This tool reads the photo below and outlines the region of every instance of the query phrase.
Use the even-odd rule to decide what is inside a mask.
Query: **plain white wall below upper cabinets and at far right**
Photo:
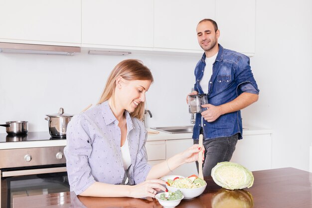
[[[311,10],[311,0],[256,2],[256,54],[251,65],[261,91],[259,101],[242,114],[244,124],[273,129],[273,168],[309,170]],[[237,28],[244,26],[238,22]],[[45,114],[60,107],[77,114],[95,104],[109,72],[125,58],[143,60],[154,75],[147,94],[153,113],[148,126],[189,125],[184,99],[200,56],[97,56],[86,51],[73,57],[0,54],[0,122],[27,120],[29,131],[47,131]]]

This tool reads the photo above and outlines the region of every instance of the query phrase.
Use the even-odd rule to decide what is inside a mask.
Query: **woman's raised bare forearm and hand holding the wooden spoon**
[[[193,145],[187,150],[172,156],[168,160],[153,166],[146,179],[159,179],[184,163],[197,161],[200,151],[203,151],[203,148],[200,148],[198,145]]]

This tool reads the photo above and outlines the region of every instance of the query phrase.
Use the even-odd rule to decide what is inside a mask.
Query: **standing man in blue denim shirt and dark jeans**
[[[195,67],[194,91],[189,95],[205,93],[208,104],[202,105],[206,111],[196,114],[192,138],[198,144],[203,134],[203,175],[210,176],[217,163],[232,158],[237,140],[242,139],[240,110],[258,100],[259,89],[249,57],[218,44],[220,31],[214,20],[201,20],[196,32],[204,54]]]

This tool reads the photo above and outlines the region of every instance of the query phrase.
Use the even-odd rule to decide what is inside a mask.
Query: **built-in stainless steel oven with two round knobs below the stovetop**
[[[64,147],[0,149],[1,208],[18,197],[68,192]]]

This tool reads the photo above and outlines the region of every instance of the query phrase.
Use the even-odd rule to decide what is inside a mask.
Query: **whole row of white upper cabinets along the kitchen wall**
[[[203,18],[225,48],[254,54],[255,0],[0,0],[0,42],[202,53]]]

